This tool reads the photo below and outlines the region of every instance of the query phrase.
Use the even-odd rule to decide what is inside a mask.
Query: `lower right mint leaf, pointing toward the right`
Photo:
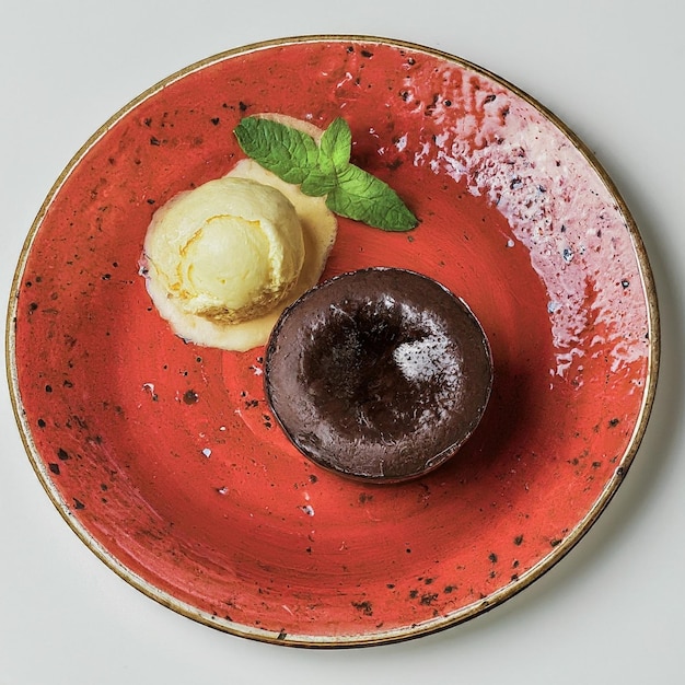
[[[348,164],[328,193],[326,207],[385,231],[409,231],[418,221],[386,183],[359,166]]]

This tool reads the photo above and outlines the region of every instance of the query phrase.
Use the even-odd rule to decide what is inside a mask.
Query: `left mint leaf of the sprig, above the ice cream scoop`
[[[314,139],[285,124],[246,117],[234,130],[243,152],[286,183],[301,184],[317,166]]]

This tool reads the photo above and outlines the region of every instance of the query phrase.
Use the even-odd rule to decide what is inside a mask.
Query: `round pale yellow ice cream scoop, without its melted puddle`
[[[274,187],[223,177],[158,210],[144,242],[147,268],[182,312],[223,324],[272,310],[304,262],[302,227]]]

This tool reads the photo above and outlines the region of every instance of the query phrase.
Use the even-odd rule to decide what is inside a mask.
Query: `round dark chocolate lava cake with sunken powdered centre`
[[[266,396],[293,444],[345,476],[394,483],[452,456],[492,384],[468,306],[425,276],[342,274],[287,309],[266,351]]]

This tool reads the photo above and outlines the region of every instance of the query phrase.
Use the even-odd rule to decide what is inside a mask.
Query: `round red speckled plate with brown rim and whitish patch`
[[[420,220],[340,220],[324,277],[410,268],[483,324],[495,382],[460,458],[397,486],[317,468],[268,414],[263,349],[172,335],[138,274],[155,208],[225,174],[240,118],[344,116]],[[417,637],[491,608],[580,539],[635,456],[659,360],[624,202],[553,115],[416,45],[306,37],[195,65],[116,114],[40,209],[9,310],[30,458],[77,534],[162,604],[292,646]]]

